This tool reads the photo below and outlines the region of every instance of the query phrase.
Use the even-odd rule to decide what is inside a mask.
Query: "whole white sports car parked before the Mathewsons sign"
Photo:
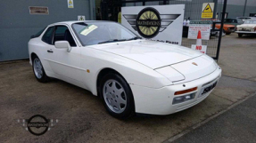
[[[118,118],[193,107],[221,75],[206,54],[141,39],[109,21],[51,24],[31,36],[29,59],[39,82],[54,77],[87,89]]]

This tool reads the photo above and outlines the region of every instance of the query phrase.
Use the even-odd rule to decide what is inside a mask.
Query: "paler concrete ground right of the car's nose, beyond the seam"
[[[256,81],[256,36],[225,36],[219,66],[223,69],[223,75]]]

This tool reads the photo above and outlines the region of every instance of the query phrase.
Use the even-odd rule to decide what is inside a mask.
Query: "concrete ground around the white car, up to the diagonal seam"
[[[162,142],[256,91],[255,39],[235,34],[223,38],[223,77],[202,103],[173,115],[128,121],[108,115],[89,91],[59,80],[38,83],[28,61],[1,63],[0,142]],[[16,121],[37,114],[60,122],[37,137]]]

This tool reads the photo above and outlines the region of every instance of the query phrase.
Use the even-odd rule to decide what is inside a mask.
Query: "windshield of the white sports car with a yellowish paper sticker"
[[[84,46],[132,40],[137,37],[136,34],[115,22],[80,22],[74,23],[72,28]]]

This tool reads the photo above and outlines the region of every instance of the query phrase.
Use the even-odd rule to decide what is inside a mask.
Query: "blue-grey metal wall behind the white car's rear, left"
[[[94,0],[73,1],[74,8],[67,0],[1,0],[0,61],[29,58],[29,37],[51,23],[78,20],[78,15],[94,20]],[[46,6],[49,15],[31,15],[29,6]]]

